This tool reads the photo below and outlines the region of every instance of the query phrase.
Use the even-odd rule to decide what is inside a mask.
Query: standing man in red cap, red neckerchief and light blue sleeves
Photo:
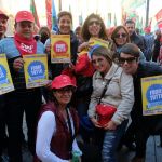
[[[0,53],[5,53],[15,91],[5,94],[6,124],[9,130],[10,162],[22,162],[22,122],[26,113],[28,147],[35,153],[35,133],[37,114],[41,105],[40,89],[26,89],[23,55],[44,54],[43,44],[33,39],[33,15],[19,11],[15,16],[15,35],[0,42]]]

